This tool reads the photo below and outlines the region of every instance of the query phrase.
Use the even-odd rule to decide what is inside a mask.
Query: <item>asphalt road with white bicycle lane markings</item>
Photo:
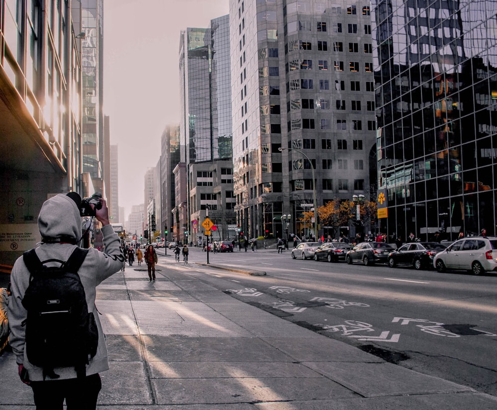
[[[209,253],[212,264],[267,273],[248,276],[194,264],[206,261],[198,249],[189,259],[162,260],[286,320],[497,396],[497,275],[293,260],[289,251]]]

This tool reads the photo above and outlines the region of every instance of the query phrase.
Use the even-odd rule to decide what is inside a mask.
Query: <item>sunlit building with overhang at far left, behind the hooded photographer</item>
[[[67,1],[0,0],[0,258],[7,272],[40,241],[43,202],[83,193],[81,39],[72,12]]]

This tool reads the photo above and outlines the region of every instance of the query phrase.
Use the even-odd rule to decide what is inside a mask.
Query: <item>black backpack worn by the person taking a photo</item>
[[[96,354],[98,329],[88,312],[78,270],[88,249],[77,247],[69,259],[48,259],[60,266],[48,267],[35,249],[23,254],[31,273],[22,306],[27,310],[26,354],[35,366],[43,368],[43,380],[60,377],[55,367],[74,367],[78,378],[85,376],[89,358]]]

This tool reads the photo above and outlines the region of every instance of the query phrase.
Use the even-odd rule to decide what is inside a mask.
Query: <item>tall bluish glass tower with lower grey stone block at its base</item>
[[[175,210],[178,214],[186,207],[188,215],[179,234],[184,242],[205,240],[201,223],[208,212],[218,226],[217,239],[234,238],[229,15],[212,19],[208,28],[181,32],[179,63],[180,161],[186,164],[186,178],[176,182],[187,184],[187,197],[186,204],[175,203]],[[177,171],[176,178],[182,168]]]

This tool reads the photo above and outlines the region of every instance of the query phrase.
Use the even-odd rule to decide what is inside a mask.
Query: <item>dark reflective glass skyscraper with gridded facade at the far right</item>
[[[373,0],[371,20],[380,230],[495,235],[496,2]]]

